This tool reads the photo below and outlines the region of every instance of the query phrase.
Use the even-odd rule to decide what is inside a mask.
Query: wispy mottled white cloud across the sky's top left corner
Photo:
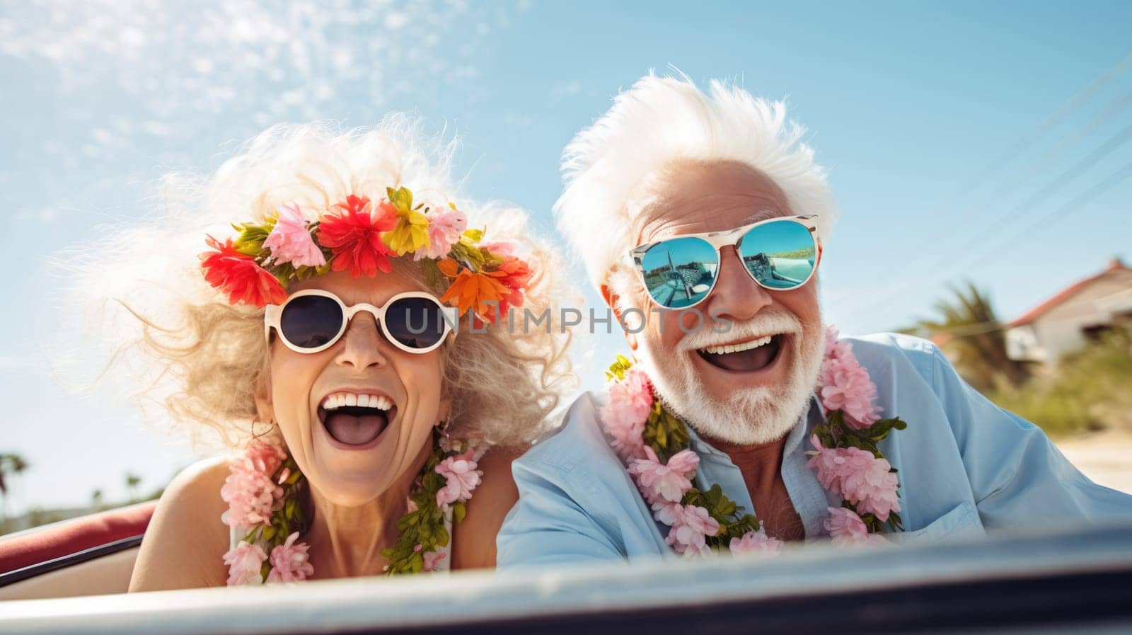
[[[397,95],[438,101],[451,85],[479,77],[469,52],[484,46],[514,10],[451,0],[191,7],[11,3],[0,18],[0,55],[46,63],[60,102],[105,100],[111,92],[121,102],[117,117],[144,121],[129,130],[93,122],[113,131],[114,143],[96,134],[92,147],[79,149],[109,158],[112,149],[135,147],[132,135],[177,147],[199,140],[201,130],[218,143],[258,131],[251,125],[323,119],[326,102],[340,95],[351,96],[342,114],[359,123],[376,120]],[[268,121],[257,117],[264,112]]]

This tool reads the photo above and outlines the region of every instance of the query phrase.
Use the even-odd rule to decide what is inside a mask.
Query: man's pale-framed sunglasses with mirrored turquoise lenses
[[[817,216],[787,216],[723,232],[680,235],[629,254],[649,297],[666,309],[702,302],[715,288],[723,247],[763,289],[789,291],[809,282],[817,267]]]

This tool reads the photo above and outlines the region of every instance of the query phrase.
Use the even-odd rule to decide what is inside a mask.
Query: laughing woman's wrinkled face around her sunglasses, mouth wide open
[[[291,291],[302,289],[325,289],[346,306],[376,307],[421,290],[395,273],[353,280],[345,272]],[[319,494],[340,505],[361,505],[415,473],[432,428],[447,417],[441,375],[440,349],[401,351],[385,340],[371,314],[360,311],[342,338],[318,353],[297,353],[273,337],[269,394],[257,404],[260,417],[280,427]]]

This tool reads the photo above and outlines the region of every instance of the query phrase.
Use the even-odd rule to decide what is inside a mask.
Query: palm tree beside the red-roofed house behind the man
[[[968,282],[952,288],[953,298],[936,302],[937,319],[921,319],[917,328],[933,337],[953,358],[963,379],[980,392],[994,388],[1000,378],[1021,386],[1030,377],[1023,362],[1006,354],[1006,334],[994,312],[989,295]]]

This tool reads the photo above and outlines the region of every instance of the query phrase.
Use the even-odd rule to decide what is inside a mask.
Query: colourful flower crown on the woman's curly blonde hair
[[[377,205],[350,195],[316,221],[290,203],[263,223],[232,228],[239,232],[234,240],[209,235],[212,250],[200,255],[205,281],[232,304],[281,304],[291,281],[332,271],[374,277],[392,271],[389,258],[412,254],[429,284],[448,281],[441,302],[491,323],[523,304],[531,280],[514,243],[483,242],[483,230],[468,229],[468,216],[454,204],[446,209],[413,206],[413,194],[403,187],[386,188]]]

